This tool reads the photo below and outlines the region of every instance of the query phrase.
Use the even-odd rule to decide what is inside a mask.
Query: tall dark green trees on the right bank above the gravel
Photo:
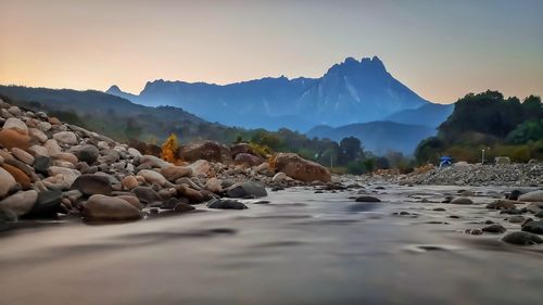
[[[543,104],[530,96],[520,101],[498,91],[469,93],[459,99],[438,136],[419,143],[418,163],[437,164],[441,155],[456,161],[481,162],[508,156],[513,162],[543,160]]]

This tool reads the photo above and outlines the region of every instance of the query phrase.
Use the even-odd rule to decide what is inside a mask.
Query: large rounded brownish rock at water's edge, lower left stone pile
[[[101,194],[91,195],[83,208],[89,220],[135,220],[143,217],[141,212],[125,200]]]

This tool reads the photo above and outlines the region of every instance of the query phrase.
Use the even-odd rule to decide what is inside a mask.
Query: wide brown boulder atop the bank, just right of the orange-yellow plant
[[[231,162],[230,150],[217,142],[201,141],[179,147],[179,156],[187,162],[205,160],[210,162]]]

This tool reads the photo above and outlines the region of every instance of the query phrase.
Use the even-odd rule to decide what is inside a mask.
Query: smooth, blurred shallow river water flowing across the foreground
[[[0,304],[541,304],[543,246],[464,233],[488,219],[519,230],[484,208],[506,189],[438,203],[457,190],[369,187],[382,202],[356,203],[357,190],[294,188],[244,211],[11,230]]]

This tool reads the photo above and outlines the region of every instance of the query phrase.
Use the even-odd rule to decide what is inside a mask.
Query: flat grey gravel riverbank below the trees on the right
[[[358,182],[402,185],[543,187],[543,163],[495,165],[460,163],[405,175],[372,174],[351,178]]]

